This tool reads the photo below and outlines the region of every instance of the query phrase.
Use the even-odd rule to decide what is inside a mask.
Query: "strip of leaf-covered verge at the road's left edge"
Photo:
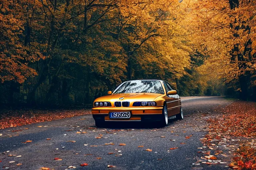
[[[90,114],[90,109],[52,109],[52,110],[8,110],[0,119],[0,129],[23,126],[33,123],[49,122],[58,119],[71,118]]]

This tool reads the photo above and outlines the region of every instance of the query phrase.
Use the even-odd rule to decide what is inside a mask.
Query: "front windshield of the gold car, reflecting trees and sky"
[[[160,81],[133,80],[121,84],[113,93],[159,93],[164,94]]]

